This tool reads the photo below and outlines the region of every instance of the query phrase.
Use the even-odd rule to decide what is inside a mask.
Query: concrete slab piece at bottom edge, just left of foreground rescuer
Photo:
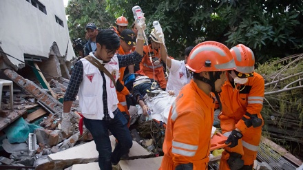
[[[122,170],[158,170],[162,159],[163,156],[136,160],[121,160],[119,164]]]

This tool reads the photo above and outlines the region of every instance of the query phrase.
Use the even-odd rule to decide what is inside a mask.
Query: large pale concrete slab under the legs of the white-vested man
[[[114,136],[109,136],[112,150],[114,150],[116,141]],[[138,142],[133,141],[133,146],[129,150],[129,158],[149,158],[150,152],[144,149]],[[94,141],[82,145],[76,145],[64,151],[50,154],[47,159],[35,162],[36,169],[64,169],[73,164],[83,164],[98,161],[98,151]]]

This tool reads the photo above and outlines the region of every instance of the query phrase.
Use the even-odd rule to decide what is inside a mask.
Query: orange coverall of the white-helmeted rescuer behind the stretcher
[[[159,49],[160,50],[160,49]],[[151,45],[145,45],[143,47],[143,59],[140,62],[140,70],[137,73],[144,72],[149,78],[154,78],[160,84],[162,89],[166,88],[167,81],[165,80],[164,70],[162,64],[155,65],[151,64],[149,60],[149,52],[151,53],[151,58],[158,58],[161,61],[160,53],[157,50],[151,49]],[[153,70],[154,68],[154,70]]]

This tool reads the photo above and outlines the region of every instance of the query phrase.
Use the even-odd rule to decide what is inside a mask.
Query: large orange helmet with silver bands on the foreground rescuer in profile
[[[191,50],[186,67],[200,73],[234,70],[236,64],[227,46],[216,41],[205,41]]]

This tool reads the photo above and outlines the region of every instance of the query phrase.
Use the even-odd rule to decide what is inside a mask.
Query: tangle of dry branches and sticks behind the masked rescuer
[[[256,70],[265,81],[264,133],[303,159],[303,54],[269,61]]]

